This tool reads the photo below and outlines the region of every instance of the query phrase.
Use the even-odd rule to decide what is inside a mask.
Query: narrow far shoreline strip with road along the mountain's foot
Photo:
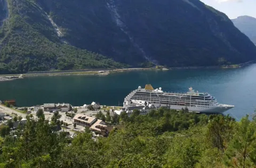
[[[14,79],[22,79],[26,77],[38,77],[38,76],[59,76],[59,75],[100,75],[106,76],[110,73],[126,72],[126,71],[166,71],[166,70],[188,70],[188,69],[234,69],[243,68],[254,64],[255,61],[249,61],[236,65],[222,65],[222,66],[184,66],[184,67],[170,67],[156,66],[155,68],[126,68],[126,69],[96,69],[96,70],[69,70],[69,71],[46,71],[46,72],[29,72],[24,74],[3,74],[0,75],[1,81],[10,81]]]

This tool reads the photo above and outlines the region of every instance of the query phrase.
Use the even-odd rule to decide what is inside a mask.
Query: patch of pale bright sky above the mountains
[[[256,0],[201,0],[206,5],[212,6],[225,13],[229,19],[249,15],[256,18]]]

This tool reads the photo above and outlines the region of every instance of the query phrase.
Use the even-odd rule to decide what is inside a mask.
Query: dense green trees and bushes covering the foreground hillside
[[[148,115],[122,113],[108,138],[92,139],[88,129],[74,139],[55,131],[44,115],[18,127],[13,137],[0,128],[0,167],[253,167],[256,120],[245,116],[198,115],[161,108]],[[10,125],[12,127],[12,125]],[[120,128],[122,127],[122,128]]]

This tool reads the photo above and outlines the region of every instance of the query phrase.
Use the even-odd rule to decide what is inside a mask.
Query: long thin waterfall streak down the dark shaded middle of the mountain
[[[156,61],[151,60],[150,57],[147,56],[146,52],[135,42],[131,33],[129,31],[127,31],[128,28],[125,25],[125,23],[121,20],[121,16],[118,13],[118,10],[117,10],[114,0],[109,0],[109,3],[107,2],[107,7],[108,7],[109,11],[111,12],[114,22],[119,27],[119,29],[121,31],[123,31],[129,37],[132,45],[141,52],[141,54],[147,61],[157,64]]]

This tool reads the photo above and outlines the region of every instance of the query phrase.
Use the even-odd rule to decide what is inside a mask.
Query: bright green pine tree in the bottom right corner
[[[236,128],[234,138],[226,150],[226,164],[237,167],[253,167],[256,161],[256,123],[243,117]]]

